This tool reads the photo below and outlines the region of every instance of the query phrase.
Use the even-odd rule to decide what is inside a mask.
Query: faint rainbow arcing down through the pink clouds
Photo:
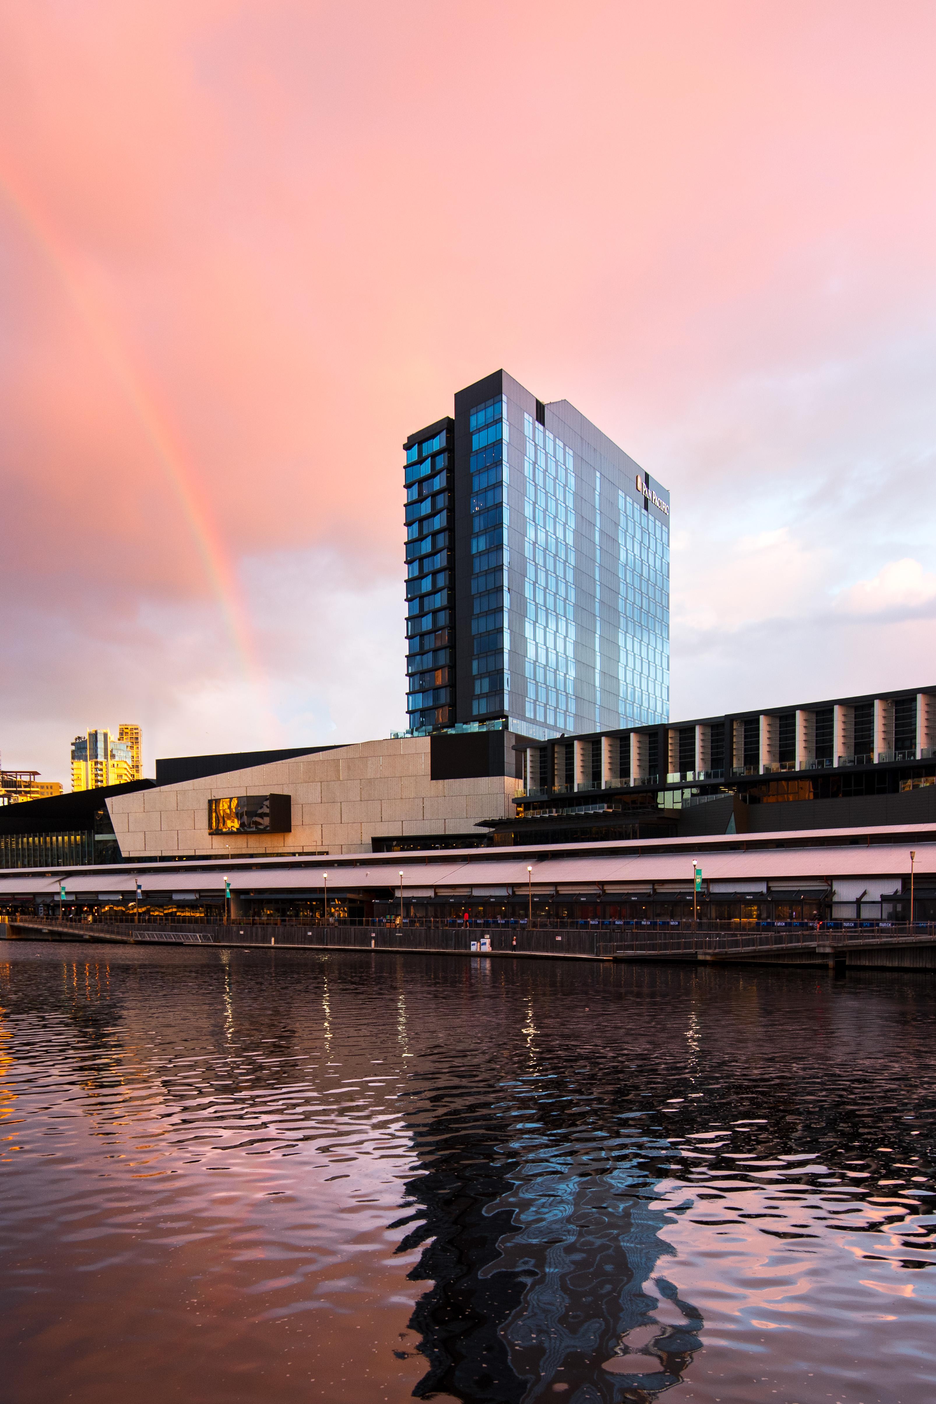
[[[166,413],[159,409],[156,393],[147,388],[140,368],[132,365],[126,348],[83,286],[80,274],[69,258],[52,222],[14,171],[11,163],[3,156],[0,156],[0,195],[55,272],[86,333],[133,410],[153,456],[182,511],[244,674],[257,689],[258,698],[262,698],[267,691],[265,678],[254,650],[250,619],[240,595],[233,563],[202,498],[196,475],[191,463],[187,463],[184,449],[173,434]]]

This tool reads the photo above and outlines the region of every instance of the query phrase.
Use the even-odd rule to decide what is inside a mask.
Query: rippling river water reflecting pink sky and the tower
[[[936,1400],[928,976],[0,946],[0,1398]]]

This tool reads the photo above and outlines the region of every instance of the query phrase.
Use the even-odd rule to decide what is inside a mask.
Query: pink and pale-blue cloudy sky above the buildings
[[[4,765],[404,724],[400,444],[672,491],[672,716],[936,681],[932,4],[0,13]]]

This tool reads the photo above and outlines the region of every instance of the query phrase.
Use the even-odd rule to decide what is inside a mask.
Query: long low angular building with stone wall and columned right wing
[[[349,855],[936,821],[936,687],[560,736],[502,722],[192,755],[0,809],[0,868]]]

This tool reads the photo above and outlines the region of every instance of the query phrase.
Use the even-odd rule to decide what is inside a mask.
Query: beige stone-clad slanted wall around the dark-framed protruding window
[[[107,804],[125,858],[370,852],[372,837],[473,834],[480,819],[512,817],[521,782],[491,775],[429,779],[428,737],[363,741],[320,755],[115,795]],[[289,834],[209,834],[208,802],[290,795]]]

